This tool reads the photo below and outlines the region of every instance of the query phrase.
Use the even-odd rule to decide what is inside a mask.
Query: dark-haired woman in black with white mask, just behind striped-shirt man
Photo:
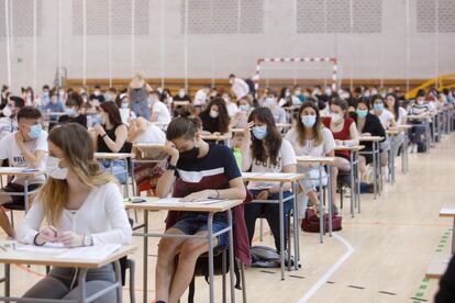
[[[226,104],[223,99],[214,98],[199,115],[202,121],[202,131],[214,134],[229,132],[231,117],[228,114]]]

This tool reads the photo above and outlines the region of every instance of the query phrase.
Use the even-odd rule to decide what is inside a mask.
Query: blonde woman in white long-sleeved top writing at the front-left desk
[[[132,231],[115,179],[96,161],[88,132],[79,124],[55,127],[48,136],[49,178],[18,229],[18,239],[37,246],[129,244]],[[76,299],[77,269],[55,267],[25,298]],[[90,269],[87,296],[115,281],[112,265]],[[116,302],[115,290],[95,301]]]

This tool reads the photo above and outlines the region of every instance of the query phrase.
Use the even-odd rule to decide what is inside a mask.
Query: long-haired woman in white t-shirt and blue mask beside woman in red
[[[296,152],[297,156],[313,156],[313,157],[334,157],[335,156],[335,141],[332,132],[323,126],[319,109],[312,102],[304,102],[299,109],[300,119],[296,121],[296,125],[289,130],[285,138],[289,141]],[[303,179],[303,188],[306,197],[303,205],[318,205],[318,192],[317,187],[319,183],[319,169],[312,165],[298,165],[299,172],[304,172],[309,178]],[[332,184],[336,184],[336,177],[339,170],[336,167],[332,169]],[[322,186],[328,184],[328,175],[325,170],[322,170]],[[336,187],[332,187],[332,210],[334,214],[337,214],[336,209]],[[308,203],[307,204],[307,202]],[[304,215],[304,209],[300,207],[299,217]]]

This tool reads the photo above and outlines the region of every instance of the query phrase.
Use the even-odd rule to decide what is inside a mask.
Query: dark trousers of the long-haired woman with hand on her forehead
[[[260,192],[260,190],[251,190],[253,195],[256,199],[256,195]],[[282,192],[282,199],[291,197],[293,193],[290,191]],[[274,193],[268,197],[268,200],[278,200],[278,193]],[[287,216],[289,212],[293,209],[293,199],[290,199],[284,203],[284,220],[285,220],[285,231],[288,228]],[[248,231],[248,239],[249,246],[252,246],[253,237],[254,237],[254,229],[256,226],[256,218],[265,217],[267,220],[268,225],[270,226],[271,233],[275,239],[275,247],[277,251],[279,251],[279,243],[280,243],[280,231],[279,231],[279,204],[269,204],[269,203],[247,203],[245,204],[245,224],[246,229]],[[285,233],[286,234],[286,233]],[[286,247],[286,237],[285,237],[285,247]]]

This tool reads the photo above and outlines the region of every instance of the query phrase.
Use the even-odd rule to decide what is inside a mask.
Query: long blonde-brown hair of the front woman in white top
[[[95,159],[95,148],[90,135],[84,126],[68,123],[54,127],[47,137],[55,146],[62,149],[68,169],[90,189],[109,182],[116,182],[115,178],[101,170]],[[38,200],[44,205],[45,216],[49,224],[58,226],[65,205],[68,202],[68,183],[66,180],[48,178],[38,192]]]

